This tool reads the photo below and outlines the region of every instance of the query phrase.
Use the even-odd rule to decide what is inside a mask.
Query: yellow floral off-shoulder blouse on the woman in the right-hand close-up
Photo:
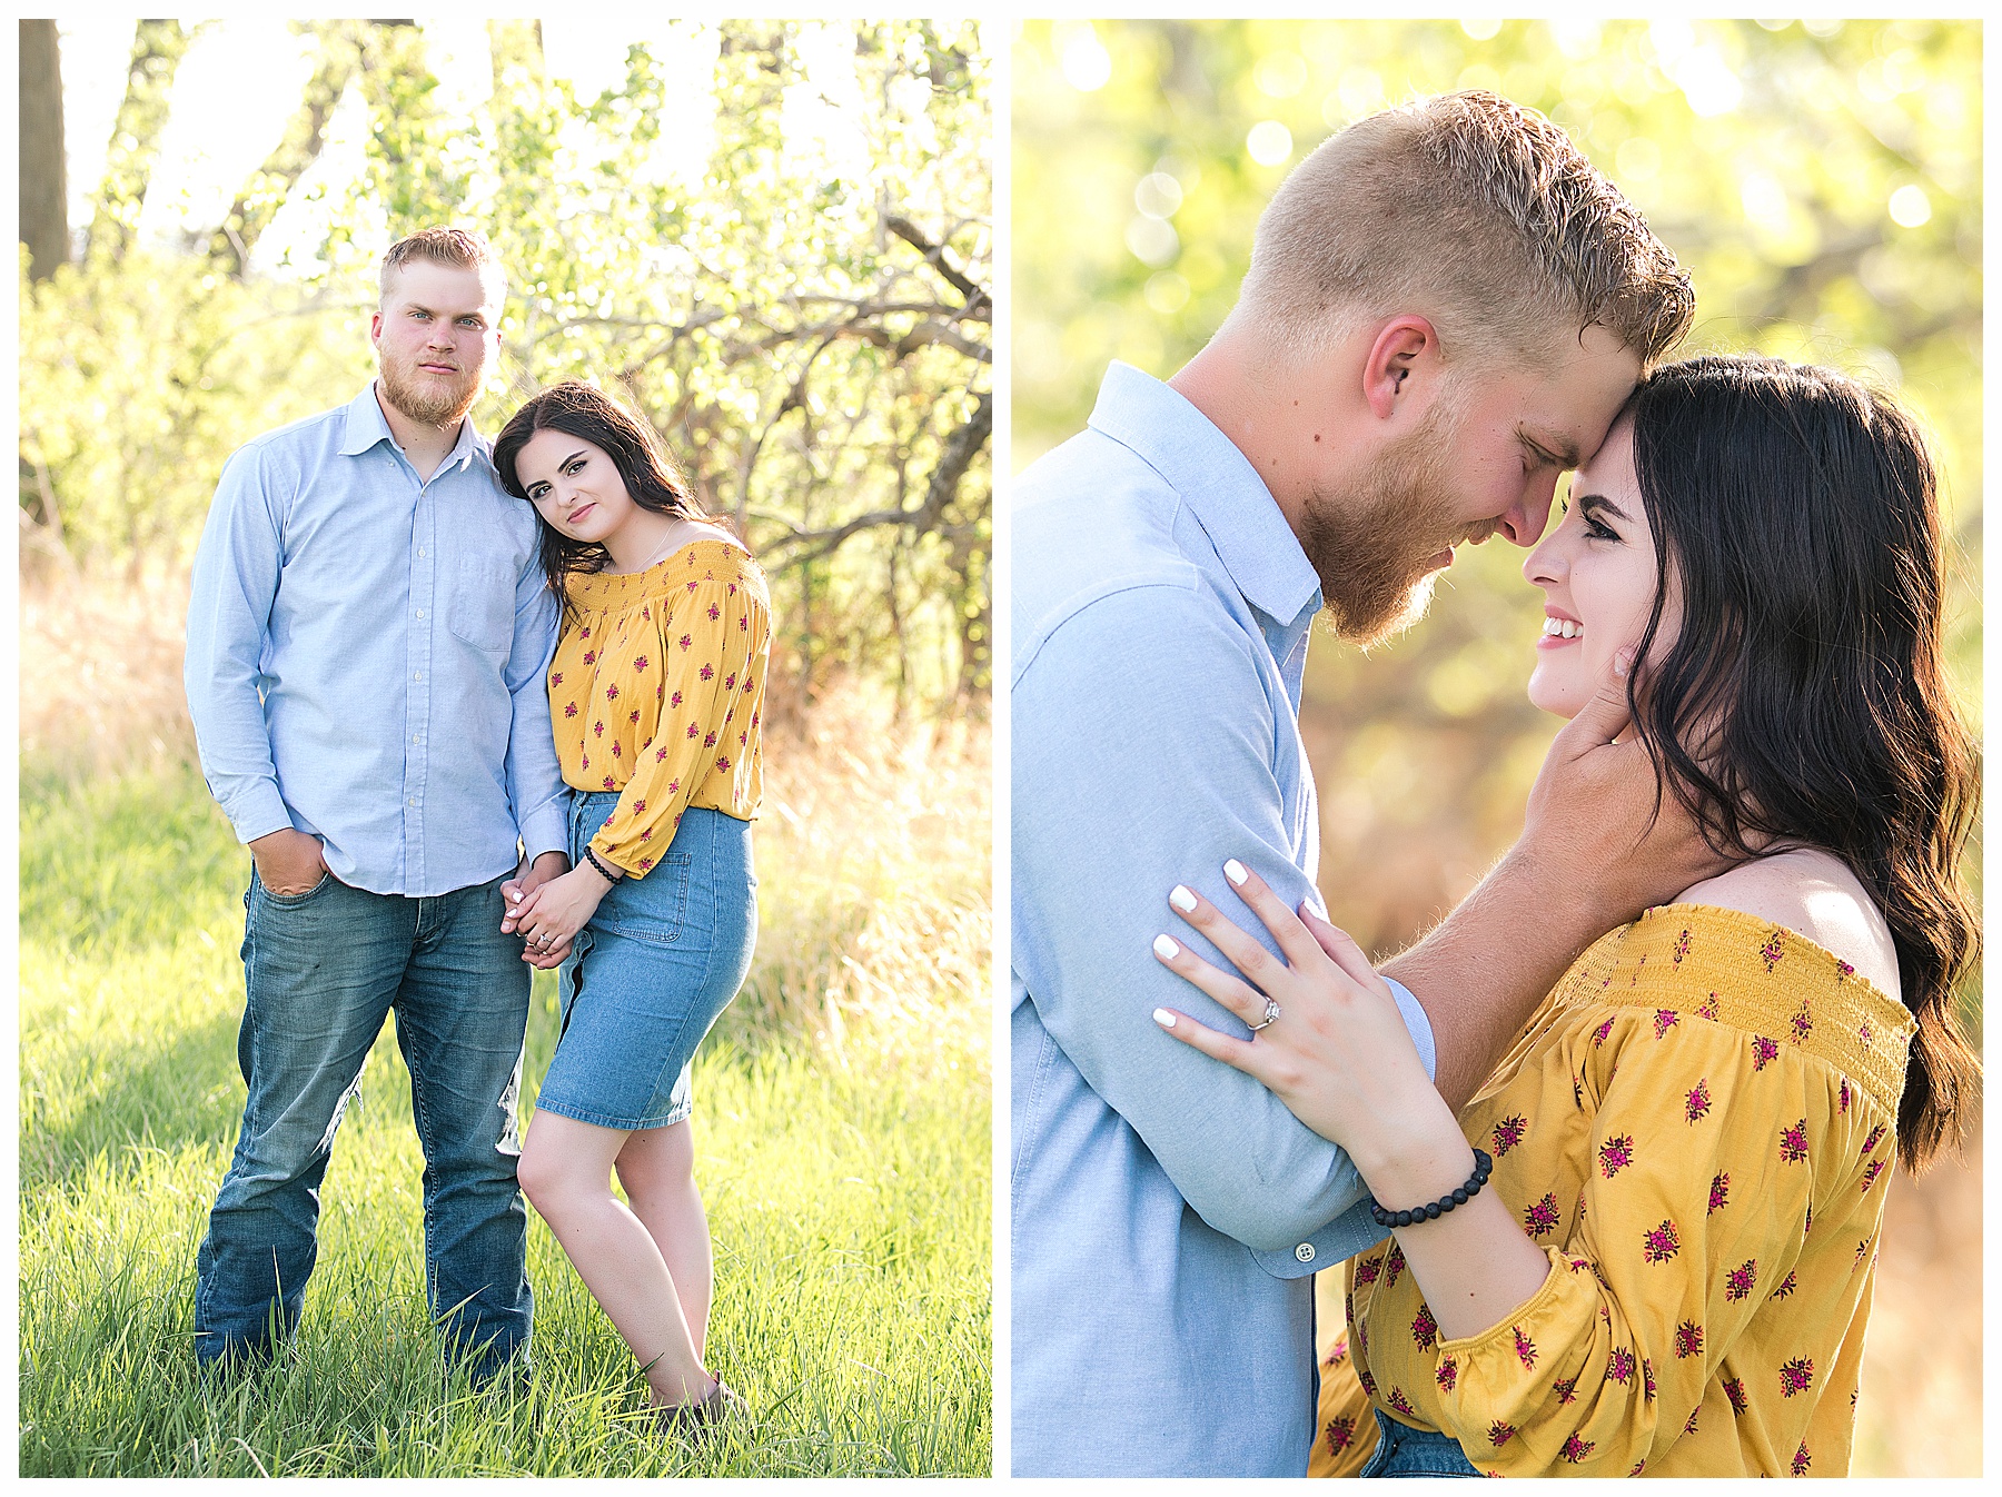
[[[1550,1277],[1441,1341],[1395,1241],[1351,1259],[1311,1471],[1361,1467],[1373,1401],[1487,1475],[1846,1475],[1910,1037],[1752,915],[1598,941],[1459,1115]]]

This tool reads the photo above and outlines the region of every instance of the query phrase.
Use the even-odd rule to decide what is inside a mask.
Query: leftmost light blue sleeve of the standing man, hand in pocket
[[[224,464],[188,582],[188,718],[208,791],[242,843],[292,825],[260,694],[278,594],[282,486],[264,448],[244,448]]]

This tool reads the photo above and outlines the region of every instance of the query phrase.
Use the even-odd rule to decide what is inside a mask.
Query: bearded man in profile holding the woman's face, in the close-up
[[[1377,640],[1459,542],[1532,544],[1690,314],[1688,276],[1562,130],[1435,98],[1303,160],[1215,340],[1167,384],[1113,364],[1091,428],[1021,476],[1015,1475],[1305,1471],[1309,1275],[1381,1231],[1339,1149],[1155,1027],[1173,1007],[1245,1035],[1149,945],[1223,961],[1175,885],[1261,931],[1225,859],[1321,913],[1295,720],[1315,612]],[[1578,951],[1716,867],[1672,817],[1648,831],[1622,718],[1608,690],[1566,730],[1522,843],[1389,965],[1453,1107]]]

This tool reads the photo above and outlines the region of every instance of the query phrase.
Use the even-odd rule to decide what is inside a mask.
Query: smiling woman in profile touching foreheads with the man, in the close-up
[[[1373,1413],[1365,1475],[1842,1475],[1890,1159],[1974,1079],[1932,466],[1838,374],[1698,358],[1572,494],[1526,564],[1530,696],[1570,716],[1638,660],[1658,783],[1742,863],[1594,945],[1457,1121],[1357,947],[1235,861],[1289,965],[1181,889],[1265,991],[1157,957],[1255,1039],[1155,1019],[1341,1143],[1393,1227],[1347,1267],[1315,1471]]]

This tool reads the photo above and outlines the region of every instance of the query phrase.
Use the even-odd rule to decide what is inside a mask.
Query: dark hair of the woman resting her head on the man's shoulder
[[[500,474],[500,486],[515,498],[529,496],[515,462],[521,458],[521,448],[537,432],[581,436],[601,448],[619,468],[627,494],[643,510],[675,514],[685,520],[709,518],[701,500],[689,490],[689,480],[681,476],[675,460],[661,446],[653,426],[581,380],[551,384],[541,394],[529,396],[494,438],[494,468]],[[565,578],[571,572],[603,572],[611,564],[611,554],[605,546],[573,540],[541,514],[537,520],[541,522],[543,574],[549,576],[549,590],[557,594],[557,602],[569,616],[571,596],[565,590]]]

